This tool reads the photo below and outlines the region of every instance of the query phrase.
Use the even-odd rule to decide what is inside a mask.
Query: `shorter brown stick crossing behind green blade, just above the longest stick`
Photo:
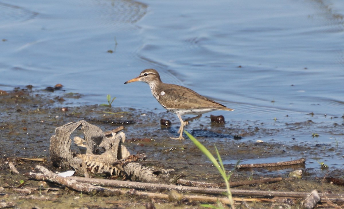
[[[282,177],[276,178],[263,178],[257,180],[248,180],[248,181],[239,181],[239,182],[229,182],[231,187],[233,186],[242,186],[242,185],[251,185],[251,184],[261,184],[261,183],[269,183],[269,182],[279,182],[282,181]],[[208,182],[196,182],[190,181],[186,179],[178,179],[177,184],[183,186],[195,186],[195,187],[211,187],[211,188],[218,188],[218,187],[225,187],[224,183],[215,184],[215,183],[208,183]]]

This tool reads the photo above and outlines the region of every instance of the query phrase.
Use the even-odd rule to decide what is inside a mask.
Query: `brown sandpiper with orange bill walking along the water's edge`
[[[228,108],[214,100],[211,100],[205,96],[202,96],[195,91],[186,88],[184,86],[163,83],[160,79],[160,75],[155,69],[143,70],[140,75],[133,78],[124,84],[143,81],[148,83],[152,91],[153,96],[157,101],[168,111],[176,114],[180,120],[180,128],[178,138],[170,137],[171,139],[184,140],[183,129],[184,125],[189,120],[202,117],[202,114],[215,111],[234,111],[234,109]],[[183,121],[182,115],[197,115],[196,117],[186,119]]]

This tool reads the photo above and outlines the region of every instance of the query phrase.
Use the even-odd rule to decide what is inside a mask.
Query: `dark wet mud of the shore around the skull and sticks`
[[[186,139],[185,141],[171,140],[170,136],[177,135],[179,128],[178,119],[175,115],[161,110],[142,111],[132,108],[104,107],[99,105],[68,105],[65,98],[69,100],[77,99],[79,94],[63,94],[56,96],[46,91],[32,90],[30,88],[16,89],[7,92],[7,95],[0,96],[0,186],[5,188],[3,198],[6,202],[15,202],[18,208],[146,208],[146,204],[154,202],[156,208],[200,208],[198,203],[171,203],[163,200],[151,200],[150,198],[132,198],[126,196],[119,197],[100,197],[80,195],[75,191],[65,188],[58,191],[44,191],[47,196],[55,196],[57,201],[39,201],[34,199],[20,199],[19,194],[13,190],[20,183],[25,181],[25,187],[37,187],[39,182],[32,181],[22,174],[34,170],[36,164],[44,165],[52,171],[58,171],[53,167],[49,157],[50,137],[54,135],[55,128],[71,121],[86,120],[89,123],[99,126],[107,131],[120,125],[125,126],[123,132],[126,133],[127,141],[125,146],[131,154],[145,153],[148,156],[147,164],[161,166],[165,169],[174,169],[176,173],[183,173],[184,178],[194,181],[204,181],[221,183],[221,177],[217,170],[207,160],[207,158]],[[63,109],[63,107],[67,107]],[[121,114],[108,114],[106,112],[126,112]],[[172,126],[166,128],[160,126],[160,119],[169,119]],[[237,120],[236,120],[237,121]],[[335,143],[332,147],[323,148],[322,145],[285,144],[279,141],[256,142],[255,140],[245,140],[262,135],[276,136],[280,132],[278,128],[271,128],[264,124],[255,124],[255,121],[241,121],[235,123],[228,120],[226,124],[211,124],[210,118],[204,118],[198,122],[192,122],[186,129],[192,133],[204,146],[214,153],[214,143],[219,148],[223,159],[229,159],[225,163],[226,169],[231,170],[234,163],[242,161],[256,162],[261,158],[287,159],[307,157],[316,162],[316,156],[334,153],[338,158],[343,158],[344,154]],[[304,121],[304,125],[312,126],[311,121]],[[316,126],[315,124],[313,124]],[[291,127],[290,124],[285,126]],[[294,124],[295,128],[297,124]],[[337,129],[336,126],[327,127],[331,130]],[[286,128],[284,127],[284,128]],[[305,127],[301,126],[300,127]],[[297,127],[296,127],[297,128]],[[340,128],[340,127],[339,127]],[[339,129],[338,128],[338,129]],[[234,139],[240,136],[242,139]],[[216,139],[214,142],[213,139]],[[20,161],[16,157],[46,158],[47,162],[38,163],[30,161]],[[20,175],[11,174],[8,162],[12,161],[21,173]],[[233,162],[234,163],[231,163]],[[319,166],[309,167],[297,165],[283,168],[261,168],[237,170],[232,175],[231,181],[247,180],[249,178],[259,179],[262,177],[283,177],[282,182],[271,184],[259,184],[236,187],[239,189],[259,189],[259,190],[281,190],[281,191],[305,191],[311,192],[313,189],[324,190],[336,194],[344,194],[343,186],[324,184],[322,180],[324,174],[329,171],[329,176],[342,177],[342,165],[338,167],[320,169]],[[302,179],[290,179],[288,173],[293,170],[301,169],[304,173]],[[99,177],[99,176],[98,176]],[[100,176],[107,178],[108,176]],[[42,191],[35,191],[33,195],[40,196]],[[298,207],[298,200],[295,205]],[[252,208],[271,207],[271,203],[249,203]],[[68,208],[68,207],[67,207]],[[238,205],[237,208],[247,208],[245,205]]]

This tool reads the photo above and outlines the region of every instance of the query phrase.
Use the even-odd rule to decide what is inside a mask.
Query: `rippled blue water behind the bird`
[[[1,0],[0,11],[1,90],[62,83],[84,95],[74,105],[111,94],[115,106],[164,111],[147,84],[123,84],[155,68],[234,108],[217,113],[238,125],[280,128],[276,140],[342,138],[328,127],[343,123],[343,1]],[[316,125],[300,134],[284,127],[307,120]]]

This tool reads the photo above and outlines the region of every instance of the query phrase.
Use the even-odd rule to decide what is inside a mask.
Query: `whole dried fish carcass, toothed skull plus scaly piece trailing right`
[[[81,126],[84,139],[75,137],[74,142],[80,149],[80,154],[72,153],[71,133]],[[146,155],[131,155],[123,146],[125,134],[115,131],[123,127],[103,132],[99,127],[84,120],[72,122],[56,128],[51,137],[50,158],[55,166],[63,170],[75,170],[76,174],[88,177],[87,170],[97,173],[119,175],[122,173],[134,181],[158,183],[163,180],[153,171],[136,163],[146,158]]]

